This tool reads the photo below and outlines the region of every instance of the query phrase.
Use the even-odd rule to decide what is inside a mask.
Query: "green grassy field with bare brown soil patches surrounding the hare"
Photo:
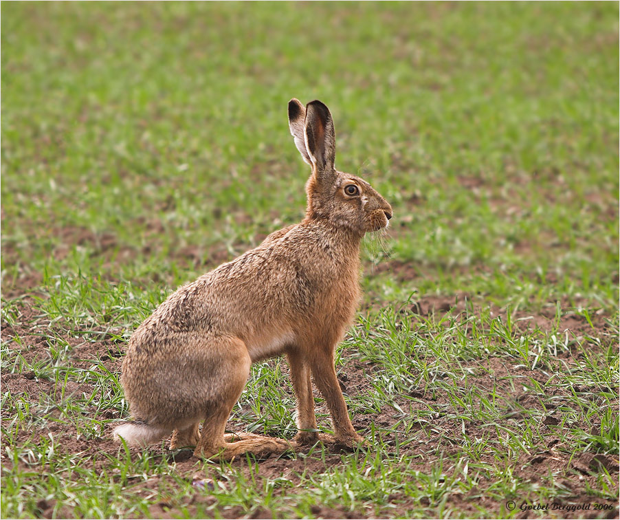
[[[617,504],[617,3],[1,11],[2,517]],[[302,217],[291,97],[330,107],[337,166],[394,208],[337,362],[369,448],[217,465],[114,446],[133,329]],[[294,435],[287,372],[255,365],[230,429]]]

